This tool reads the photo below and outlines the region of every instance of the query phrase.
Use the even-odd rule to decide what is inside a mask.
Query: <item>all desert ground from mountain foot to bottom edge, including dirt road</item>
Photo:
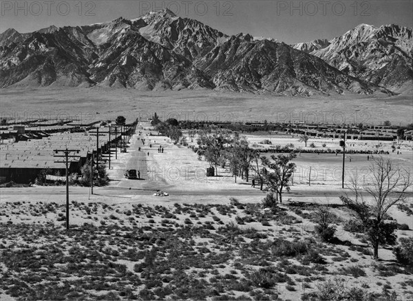
[[[392,247],[379,249],[380,260],[373,260],[366,239],[345,227],[350,211],[339,196],[353,195],[341,189],[340,156],[297,156],[291,191],[272,212],[262,208],[266,192],[260,187],[241,178],[235,183],[227,168],[206,177],[207,161],[158,136],[147,122],[157,112],[161,118],[222,123],[407,125],[413,122],[411,96],[288,98],[94,87],[1,90],[0,100],[3,118],[142,118],[127,152],[116,160],[112,155],[109,185],[95,187],[94,194],[89,187],[70,187],[69,232],[64,186],[0,188],[1,300],[328,300],[326,283],[377,293],[375,300],[413,300],[412,270],[396,263]],[[256,144],[300,144],[294,135],[244,135]],[[310,141],[319,148],[339,144],[338,138]],[[386,158],[412,171],[412,141],[403,141],[397,155],[392,141],[348,143],[359,149],[379,144],[390,152]],[[159,145],[163,154],[156,152]],[[369,164],[366,154],[352,155],[346,178],[366,172]],[[140,170],[142,180],[126,179],[126,169]],[[169,196],[153,196],[158,190]],[[411,188],[407,194],[406,207],[390,212],[405,225],[396,230],[399,238],[413,236]],[[319,204],[331,207],[335,242],[315,236],[313,210]],[[393,292],[397,299],[391,299]]]

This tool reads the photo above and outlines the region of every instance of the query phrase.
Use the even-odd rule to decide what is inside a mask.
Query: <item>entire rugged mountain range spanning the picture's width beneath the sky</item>
[[[361,24],[287,45],[229,36],[169,10],[138,19],[0,34],[0,87],[413,94],[412,28]]]

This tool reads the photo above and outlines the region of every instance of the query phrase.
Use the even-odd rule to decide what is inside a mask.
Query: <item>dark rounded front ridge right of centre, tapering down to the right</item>
[[[195,63],[220,89],[279,94],[370,93],[370,87],[284,43],[233,36]]]

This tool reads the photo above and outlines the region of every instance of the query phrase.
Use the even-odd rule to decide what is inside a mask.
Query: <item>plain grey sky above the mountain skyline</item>
[[[286,43],[332,39],[360,23],[413,27],[413,1],[0,1],[0,32],[32,32],[49,25],[85,25],[134,19],[167,7],[180,17],[206,23],[226,34],[250,33]]]

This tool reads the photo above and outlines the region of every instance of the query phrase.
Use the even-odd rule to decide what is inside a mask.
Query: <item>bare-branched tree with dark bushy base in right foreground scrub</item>
[[[374,250],[374,259],[379,258],[379,246],[396,242],[394,223],[385,222],[388,211],[394,205],[404,203],[407,189],[412,186],[410,172],[394,165],[389,158],[374,158],[369,167],[368,183],[360,187],[357,175],[350,178],[349,188],[354,197],[340,196],[344,205],[354,212],[363,225]],[[371,198],[368,202],[364,195]]]

